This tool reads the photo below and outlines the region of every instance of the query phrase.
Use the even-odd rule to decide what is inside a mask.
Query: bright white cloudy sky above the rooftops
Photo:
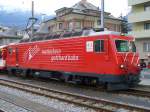
[[[15,10],[31,10],[31,1],[34,1],[35,12],[46,15],[54,15],[55,10],[62,7],[71,7],[80,0],[0,0],[0,9],[9,12]],[[101,0],[87,0],[97,7],[100,6]],[[124,16],[129,12],[128,0],[105,0],[105,11],[110,12],[113,16]]]

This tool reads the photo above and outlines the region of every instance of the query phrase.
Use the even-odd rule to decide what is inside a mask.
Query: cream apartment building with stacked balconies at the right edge
[[[135,36],[141,59],[150,58],[150,0],[129,0],[132,11],[128,17],[132,23],[131,35]]]

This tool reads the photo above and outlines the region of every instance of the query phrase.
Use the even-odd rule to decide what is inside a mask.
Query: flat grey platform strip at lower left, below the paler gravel
[[[45,105],[38,104],[36,102],[32,102],[27,99],[23,99],[21,97],[7,94],[7,93],[1,92],[1,91],[0,91],[0,99],[3,99],[10,103],[13,103],[17,106],[24,107],[32,112],[62,112],[62,111],[56,110],[54,108],[50,108]]]

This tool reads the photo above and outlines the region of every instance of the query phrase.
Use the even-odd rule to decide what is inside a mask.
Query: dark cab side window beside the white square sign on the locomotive
[[[104,52],[104,40],[94,41],[94,52]]]

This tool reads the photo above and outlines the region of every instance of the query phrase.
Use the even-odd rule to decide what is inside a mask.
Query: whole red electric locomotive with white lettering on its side
[[[139,83],[134,38],[103,31],[68,32],[9,45],[7,70],[21,75],[125,89]]]

